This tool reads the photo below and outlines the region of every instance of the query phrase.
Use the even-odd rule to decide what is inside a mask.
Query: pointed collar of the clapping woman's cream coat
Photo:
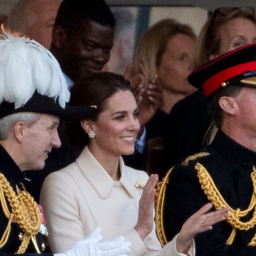
[[[134,169],[124,165],[123,159],[120,157],[120,183],[130,196],[134,196],[136,180],[139,176],[134,178]],[[90,153],[88,147],[85,147],[76,159],[75,164],[78,166],[80,172],[91,184],[94,190],[102,198],[108,198],[113,188],[114,181],[109,174],[103,169],[100,163]],[[138,173],[138,172],[137,172]],[[133,175],[132,175],[133,174]],[[138,174],[137,174],[138,175]]]

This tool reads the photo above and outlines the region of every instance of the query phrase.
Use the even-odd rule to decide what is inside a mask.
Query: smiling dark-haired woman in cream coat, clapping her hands
[[[84,149],[74,163],[50,174],[43,184],[40,201],[51,250],[63,252],[100,227],[104,239],[123,235],[130,241],[132,256],[194,255],[194,235],[225,219],[227,210],[205,214],[211,208],[206,205],[162,250],[153,220],[158,176],[125,166],[121,158],[133,154],[140,128],[128,81],[101,72],[80,80],[71,92],[72,105],[95,105],[98,114],[70,125],[71,141]]]

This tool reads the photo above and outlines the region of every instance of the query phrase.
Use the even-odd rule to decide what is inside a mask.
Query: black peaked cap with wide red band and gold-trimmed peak
[[[256,87],[256,43],[228,52],[194,70],[188,82],[208,97],[232,84]]]

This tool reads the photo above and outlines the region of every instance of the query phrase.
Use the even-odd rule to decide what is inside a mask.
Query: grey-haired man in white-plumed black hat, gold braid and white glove
[[[26,169],[42,169],[60,147],[59,120],[94,115],[94,107],[70,107],[69,91],[53,55],[29,38],[0,30],[0,256],[44,250],[47,229],[40,205],[23,185]],[[55,256],[116,256],[129,252],[124,237],[101,241],[97,228]],[[42,255],[53,256],[52,253]]]

